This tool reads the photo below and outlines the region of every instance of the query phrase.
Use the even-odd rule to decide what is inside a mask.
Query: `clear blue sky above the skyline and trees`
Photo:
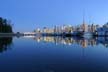
[[[14,32],[30,32],[55,25],[103,25],[108,22],[108,0],[1,0],[0,17],[11,20]]]

